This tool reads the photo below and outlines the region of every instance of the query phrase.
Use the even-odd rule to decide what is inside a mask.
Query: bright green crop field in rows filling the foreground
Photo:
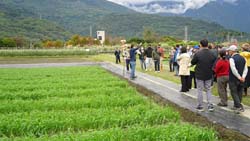
[[[214,141],[100,67],[0,69],[0,140]]]

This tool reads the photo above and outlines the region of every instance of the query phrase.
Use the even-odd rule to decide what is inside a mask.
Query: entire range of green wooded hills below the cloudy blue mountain
[[[191,11],[190,11],[191,12]],[[222,36],[227,30],[214,22],[189,17],[164,17],[139,13],[107,0],[1,0],[0,37],[24,36],[34,40],[68,39],[73,34],[90,35],[105,30],[107,35],[142,37],[145,28],[159,35],[184,38],[184,27],[189,38]]]

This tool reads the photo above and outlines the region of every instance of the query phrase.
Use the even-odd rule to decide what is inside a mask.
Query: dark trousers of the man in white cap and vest
[[[242,100],[242,93],[244,84],[240,81],[229,81],[229,88],[231,91],[231,95],[234,101],[234,107],[241,108],[241,100]]]

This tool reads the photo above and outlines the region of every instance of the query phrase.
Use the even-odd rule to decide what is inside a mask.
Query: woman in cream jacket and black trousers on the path
[[[188,92],[189,91],[189,65],[191,58],[189,54],[187,53],[187,48],[182,47],[181,48],[181,54],[177,57],[177,60],[179,61],[179,76],[181,76],[181,90],[180,92]]]

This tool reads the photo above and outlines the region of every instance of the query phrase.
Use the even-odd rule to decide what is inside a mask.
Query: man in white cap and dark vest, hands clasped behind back
[[[238,48],[235,45],[231,45],[228,49],[228,54],[231,56],[229,59],[229,88],[234,101],[233,109],[237,114],[244,112],[242,101],[242,93],[245,78],[247,76],[247,63],[244,57],[238,52]]]

